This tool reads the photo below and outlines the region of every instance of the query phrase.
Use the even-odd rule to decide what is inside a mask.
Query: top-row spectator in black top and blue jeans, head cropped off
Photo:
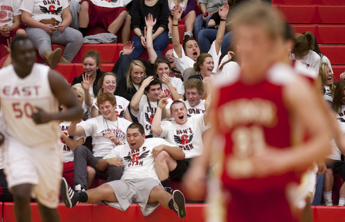
[[[168,46],[168,1],[134,0],[132,3],[131,28],[135,32],[135,36],[132,38],[135,49],[130,54],[133,59],[139,58],[141,53],[144,52],[144,48],[146,48],[145,17],[149,13],[152,14],[153,19],[157,19],[157,23],[153,27],[155,33],[152,34],[153,47],[157,56],[161,57],[163,50]]]

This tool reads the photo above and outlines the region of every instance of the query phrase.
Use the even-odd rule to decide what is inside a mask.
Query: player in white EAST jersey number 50
[[[66,80],[46,65],[34,64],[30,39],[11,44],[13,64],[0,70],[1,111],[6,127],[5,172],[14,197],[17,221],[31,221],[31,195],[39,203],[42,221],[59,221],[61,150],[57,120],[83,115]],[[66,112],[59,112],[59,103]]]

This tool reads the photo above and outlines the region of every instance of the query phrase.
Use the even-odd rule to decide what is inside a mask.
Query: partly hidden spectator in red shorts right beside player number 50
[[[66,107],[61,105],[61,111],[64,112]],[[63,171],[62,176],[66,179],[67,183],[71,186],[74,184],[75,179],[75,170],[74,170],[74,154],[75,148],[78,145],[83,145],[85,137],[70,137],[68,135],[68,127],[70,126],[70,121],[62,121],[60,123],[61,129],[61,148],[62,152],[62,162],[63,162]],[[93,179],[95,178],[95,170],[88,167],[88,174],[86,176],[88,181],[88,186],[92,184]]]

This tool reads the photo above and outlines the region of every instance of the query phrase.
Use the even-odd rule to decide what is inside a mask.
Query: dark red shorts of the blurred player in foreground
[[[299,221],[290,210],[284,189],[250,194],[234,190],[226,210],[226,220],[232,222]]]

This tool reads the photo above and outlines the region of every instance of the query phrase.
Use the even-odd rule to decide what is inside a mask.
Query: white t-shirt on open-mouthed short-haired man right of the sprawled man
[[[201,136],[208,129],[204,122],[204,114],[190,117],[183,125],[179,125],[175,121],[162,121],[161,128],[163,128],[163,132],[159,137],[184,150],[186,159],[202,154],[204,144]]]

